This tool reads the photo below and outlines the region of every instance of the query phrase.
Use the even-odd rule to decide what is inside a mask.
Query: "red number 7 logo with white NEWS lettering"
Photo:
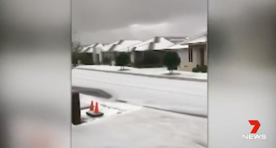
[[[242,139],[267,139],[267,135],[265,134],[256,134],[260,127],[260,123],[258,120],[249,120],[249,123],[251,125],[254,125],[251,134],[243,134]]]

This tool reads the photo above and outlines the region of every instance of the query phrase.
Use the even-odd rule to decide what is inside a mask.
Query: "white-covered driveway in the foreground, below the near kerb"
[[[206,148],[207,118],[143,108],[72,125],[72,148]]]

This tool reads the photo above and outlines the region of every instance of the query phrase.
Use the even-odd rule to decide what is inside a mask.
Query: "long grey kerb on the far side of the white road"
[[[91,68],[75,68],[81,70],[92,70],[92,71],[99,71],[99,72],[109,72],[109,73],[116,73],[116,74],[129,74],[134,76],[145,76],[150,78],[166,78],[166,79],[173,79],[173,80],[184,80],[184,81],[196,81],[196,82],[207,82],[206,79],[197,79],[197,78],[183,78],[183,77],[173,77],[173,76],[158,76],[152,74],[137,74],[131,72],[119,72],[119,71],[108,71],[108,70],[98,70],[98,69],[91,69]]]

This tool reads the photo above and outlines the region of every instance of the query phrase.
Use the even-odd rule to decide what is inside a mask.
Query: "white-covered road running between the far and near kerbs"
[[[134,105],[207,116],[207,82],[73,69],[72,86],[102,89]]]

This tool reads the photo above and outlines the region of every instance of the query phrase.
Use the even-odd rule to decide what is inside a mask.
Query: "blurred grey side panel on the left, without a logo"
[[[70,147],[71,1],[1,0],[0,20],[0,147]]]

